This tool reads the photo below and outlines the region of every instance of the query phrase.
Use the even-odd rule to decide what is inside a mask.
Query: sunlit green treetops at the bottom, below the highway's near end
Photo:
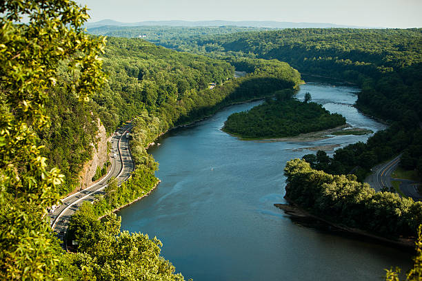
[[[83,226],[85,233],[80,233],[79,253],[61,258],[63,280],[184,280],[160,256],[163,244],[157,238],[121,232],[115,214],[100,222],[88,202],[74,216],[74,225]]]

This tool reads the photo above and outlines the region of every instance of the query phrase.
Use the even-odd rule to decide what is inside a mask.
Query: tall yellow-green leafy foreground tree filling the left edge
[[[45,215],[63,175],[46,168],[37,135],[50,125],[45,105],[59,64],[74,76],[68,90],[80,101],[106,81],[103,41],[83,32],[87,9],[74,1],[6,0],[0,14],[0,278],[57,280],[59,249]]]

